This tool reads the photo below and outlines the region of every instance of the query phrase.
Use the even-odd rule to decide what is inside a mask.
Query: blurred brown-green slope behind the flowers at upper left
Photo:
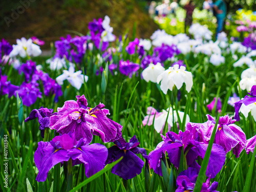
[[[114,34],[129,31],[132,35],[137,23],[136,36],[149,38],[158,29],[146,12],[146,1],[136,0],[12,0],[0,1],[0,37],[7,39],[37,36],[57,40],[67,30],[87,34],[93,18],[109,15]],[[15,17],[16,16],[16,17]],[[15,17],[15,18],[14,18]]]

